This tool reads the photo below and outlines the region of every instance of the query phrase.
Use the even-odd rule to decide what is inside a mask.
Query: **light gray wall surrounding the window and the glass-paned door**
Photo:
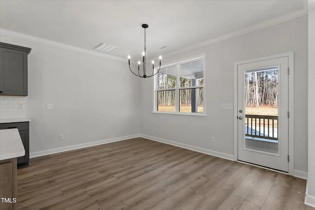
[[[207,118],[152,114],[153,80],[142,80],[141,133],[233,155],[233,110],[222,110],[221,103],[233,104],[234,62],[294,51],[294,169],[307,172],[307,27],[304,16],[163,59],[206,54]]]

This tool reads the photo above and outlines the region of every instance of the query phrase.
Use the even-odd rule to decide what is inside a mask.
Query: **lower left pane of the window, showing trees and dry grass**
[[[158,111],[175,112],[175,90],[158,91]]]

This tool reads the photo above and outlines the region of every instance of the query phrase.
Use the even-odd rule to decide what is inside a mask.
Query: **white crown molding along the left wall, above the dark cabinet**
[[[43,38],[39,38],[39,37],[36,37],[36,36],[27,35],[27,34],[24,34],[24,33],[18,33],[18,32],[11,31],[11,30],[0,29],[0,34],[1,35],[10,36],[10,37],[14,37],[14,38],[24,39],[24,40],[27,40],[27,41],[37,42],[37,43],[40,43],[40,44],[45,44],[45,45],[50,45],[50,46],[54,46],[54,47],[59,47],[59,48],[63,48],[63,49],[66,49],[66,50],[72,50],[72,51],[79,52],[79,53],[84,53],[84,54],[88,54],[88,55],[98,56],[98,57],[102,57],[102,58],[106,58],[106,59],[127,62],[126,58],[121,58],[121,57],[117,57],[117,56],[111,56],[111,55],[107,55],[107,54],[103,54],[103,53],[98,53],[98,52],[95,52],[93,50],[87,50],[87,49],[84,49],[84,48],[75,47],[75,46],[63,44],[63,43],[60,43],[60,42],[55,42],[55,41],[51,41],[51,40],[48,40],[48,39],[43,39]]]

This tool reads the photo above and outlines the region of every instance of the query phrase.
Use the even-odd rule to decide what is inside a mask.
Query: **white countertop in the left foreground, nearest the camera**
[[[0,160],[23,155],[25,155],[25,150],[19,130],[17,128],[0,130]]]

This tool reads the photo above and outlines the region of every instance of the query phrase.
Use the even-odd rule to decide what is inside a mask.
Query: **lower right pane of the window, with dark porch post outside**
[[[203,88],[179,90],[180,112],[203,113]]]

